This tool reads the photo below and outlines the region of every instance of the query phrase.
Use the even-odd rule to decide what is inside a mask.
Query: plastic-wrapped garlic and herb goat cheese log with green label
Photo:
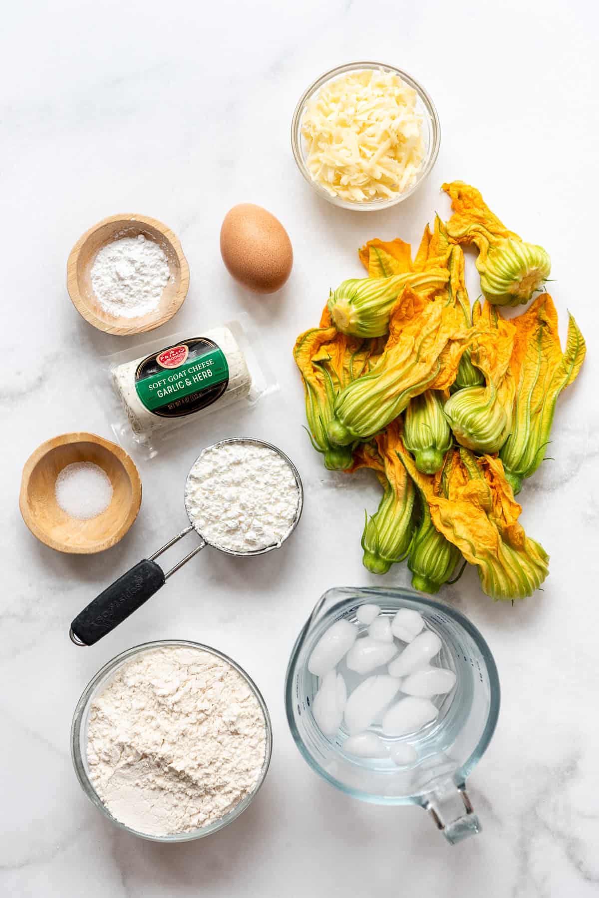
[[[120,365],[114,388],[137,442],[250,396],[246,357],[227,326],[200,332]]]

